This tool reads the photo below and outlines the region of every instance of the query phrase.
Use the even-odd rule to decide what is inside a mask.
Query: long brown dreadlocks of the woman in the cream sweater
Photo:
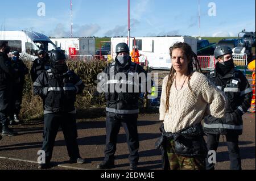
[[[191,92],[193,93],[193,95],[196,96],[196,93],[191,88],[190,80],[191,80],[191,76],[194,71],[194,68],[196,69],[196,71],[199,71],[200,73],[202,73],[202,70],[199,65],[199,61],[197,60],[197,55],[196,55],[196,53],[193,52],[193,50],[189,44],[178,42],[178,43],[175,43],[172,47],[170,47],[171,58],[172,58],[172,51],[176,48],[182,49],[183,53],[187,57],[187,60],[189,61],[189,64],[188,64],[188,74],[189,74],[188,75],[188,87],[189,87],[189,90],[191,90]],[[170,70],[169,77],[168,77],[167,86],[166,86],[166,96],[167,96],[166,97],[166,112],[169,110],[170,91],[171,91],[172,83],[174,82],[174,79],[175,79],[175,73],[176,73],[176,70],[172,66],[172,68]]]

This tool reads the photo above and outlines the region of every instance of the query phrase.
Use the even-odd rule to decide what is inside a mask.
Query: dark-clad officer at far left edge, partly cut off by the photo
[[[2,136],[15,136],[17,133],[9,128],[10,98],[13,91],[14,70],[8,57],[8,41],[0,41],[0,131]]]

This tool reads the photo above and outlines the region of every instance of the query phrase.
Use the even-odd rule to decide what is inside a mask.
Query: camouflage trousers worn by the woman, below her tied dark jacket
[[[174,152],[174,140],[166,145],[170,170],[205,170],[204,157],[184,157]]]

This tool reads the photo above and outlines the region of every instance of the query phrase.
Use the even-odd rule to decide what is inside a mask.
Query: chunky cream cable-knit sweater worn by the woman
[[[168,76],[163,80],[160,103],[160,120],[164,121],[166,132],[175,133],[191,125],[200,123],[204,115],[222,118],[225,115],[226,97],[216,86],[212,85],[204,74],[193,73],[190,85],[177,91],[174,83],[170,91],[169,111],[166,112],[166,86]]]

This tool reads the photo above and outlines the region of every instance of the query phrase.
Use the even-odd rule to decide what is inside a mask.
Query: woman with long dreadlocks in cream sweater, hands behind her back
[[[205,169],[207,148],[201,120],[207,114],[224,117],[226,98],[201,73],[187,43],[174,44],[170,56],[172,68],[163,81],[159,109],[163,134],[156,147],[162,146],[164,169]]]

